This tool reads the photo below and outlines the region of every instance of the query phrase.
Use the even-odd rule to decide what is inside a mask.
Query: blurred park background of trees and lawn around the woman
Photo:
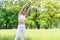
[[[0,40],[13,40],[18,13],[27,2],[37,8],[26,18],[25,40],[60,40],[60,0],[0,0]]]

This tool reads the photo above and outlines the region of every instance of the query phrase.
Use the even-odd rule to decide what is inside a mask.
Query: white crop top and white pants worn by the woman
[[[18,17],[18,21],[24,22],[25,21],[25,16],[21,15]],[[25,24],[18,25],[17,31],[16,31],[16,36],[14,40],[18,40],[19,34],[21,33],[21,40],[24,40],[24,34],[25,34]]]

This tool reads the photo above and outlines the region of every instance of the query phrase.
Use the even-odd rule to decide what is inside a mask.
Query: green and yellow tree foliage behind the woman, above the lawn
[[[18,13],[27,2],[33,2],[33,8],[26,18],[29,28],[60,28],[60,0],[3,0],[0,4],[0,29],[16,28]],[[6,5],[4,5],[6,4]],[[2,6],[4,5],[4,6]]]

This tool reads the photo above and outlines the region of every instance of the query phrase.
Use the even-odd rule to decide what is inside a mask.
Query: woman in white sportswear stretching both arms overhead
[[[27,3],[25,4],[21,11],[19,12],[18,14],[18,28],[17,28],[17,31],[16,31],[16,36],[15,36],[15,39],[14,40],[18,40],[18,37],[19,37],[19,34],[21,33],[21,40],[24,40],[24,34],[25,34],[25,18],[27,16],[27,13],[29,12],[30,10],[30,7],[27,9],[27,11],[24,9],[26,7],[26,5],[30,5],[31,6],[31,3]]]

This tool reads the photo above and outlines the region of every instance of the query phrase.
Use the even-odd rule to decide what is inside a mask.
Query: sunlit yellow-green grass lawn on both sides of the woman
[[[0,30],[0,40],[14,40],[16,29]],[[60,40],[60,29],[27,29],[25,40]]]

